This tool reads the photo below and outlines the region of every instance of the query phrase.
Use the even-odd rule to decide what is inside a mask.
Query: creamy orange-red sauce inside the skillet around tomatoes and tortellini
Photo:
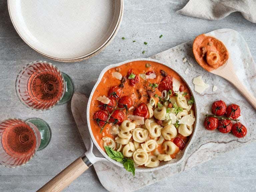
[[[146,63],[150,64],[151,67],[146,67]],[[148,71],[155,71],[156,73],[156,78],[155,79],[146,79],[143,80],[142,78],[140,78],[139,76],[139,82],[135,84],[135,86],[130,86],[129,82],[124,83],[124,88],[122,88],[122,96],[125,95],[129,95],[132,97],[133,101],[134,101],[134,109],[136,109],[136,107],[141,104],[141,103],[148,103],[149,102],[149,97],[147,95],[147,88],[148,85],[150,83],[157,83],[159,84],[162,76],[160,73],[160,70],[164,70],[168,75],[171,75],[173,78],[177,79],[178,81],[181,82],[181,85],[184,86],[184,92],[187,93],[187,95],[185,96],[187,100],[190,99],[191,93],[190,90],[187,86],[187,84],[181,79],[181,77],[172,69],[170,69],[169,67],[162,65],[160,63],[156,63],[153,61],[133,61],[130,63],[126,63],[123,64],[119,67],[114,67],[109,69],[107,72],[105,72],[105,74],[103,75],[100,83],[98,84],[97,88],[95,89],[95,92],[92,96],[92,100],[91,100],[91,104],[90,104],[90,124],[91,124],[91,129],[93,132],[93,135],[96,139],[96,141],[98,142],[98,144],[100,145],[100,147],[104,150],[103,147],[103,143],[102,143],[102,138],[103,137],[110,137],[114,139],[114,136],[112,134],[109,133],[109,129],[111,128],[111,124],[107,124],[102,133],[100,133],[100,127],[98,126],[98,124],[96,123],[96,121],[93,119],[93,115],[96,111],[100,110],[99,108],[99,101],[97,101],[97,98],[99,96],[107,96],[108,97],[108,91],[109,88],[112,86],[119,86],[121,84],[121,81],[114,78],[112,76],[113,72],[116,71],[120,71],[120,73],[122,74],[122,76],[127,76],[128,71],[132,69],[133,73],[138,75],[142,74],[142,73],[146,73]],[[161,92],[155,88],[155,93],[154,94],[158,94],[159,96],[161,96]],[[134,109],[128,111],[128,114],[133,114]],[[193,109],[193,108],[192,108]],[[127,116],[126,118],[127,119]],[[184,142],[186,142],[188,140],[187,137],[184,137],[180,134],[178,134],[177,136],[179,136],[180,138],[182,138],[184,140]],[[173,141],[173,139],[171,140]],[[164,154],[164,151],[162,149],[162,145],[158,146],[158,151],[160,152],[160,154]],[[177,154],[179,152],[179,148],[177,147],[177,150],[174,154],[171,155],[172,158],[175,158],[175,154]],[[153,152],[152,152],[153,153]]]

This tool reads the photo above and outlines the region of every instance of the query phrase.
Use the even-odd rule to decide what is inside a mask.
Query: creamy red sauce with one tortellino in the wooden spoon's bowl
[[[205,34],[195,38],[193,54],[198,64],[207,71],[224,65],[229,57],[228,50],[220,40]]]

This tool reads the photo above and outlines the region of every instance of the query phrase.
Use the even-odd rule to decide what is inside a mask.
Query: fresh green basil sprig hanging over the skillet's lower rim
[[[124,168],[127,171],[132,172],[133,176],[135,175],[135,167],[134,167],[134,162],[132,159],[128,159],[128,158],[124,157],[124,155],[121,152],[115,151],[108,146],[105,146],[104,148],[106,150],[107,155],[111,159],[114,159],[117,162],[122,163],[124,165]]]

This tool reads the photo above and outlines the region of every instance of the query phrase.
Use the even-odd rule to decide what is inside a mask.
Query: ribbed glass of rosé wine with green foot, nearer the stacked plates
[[[65,73],[46,61],[26,65],[16,79],[16,93],[29,108],[47,110],[68,102],[74,92],[74,83]]]

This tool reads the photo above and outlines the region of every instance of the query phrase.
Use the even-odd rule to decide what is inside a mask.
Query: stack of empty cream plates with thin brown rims
[[[123,0],[8,0],[20,37],[42,55],[60,61],[86,59],[116,33]]]

